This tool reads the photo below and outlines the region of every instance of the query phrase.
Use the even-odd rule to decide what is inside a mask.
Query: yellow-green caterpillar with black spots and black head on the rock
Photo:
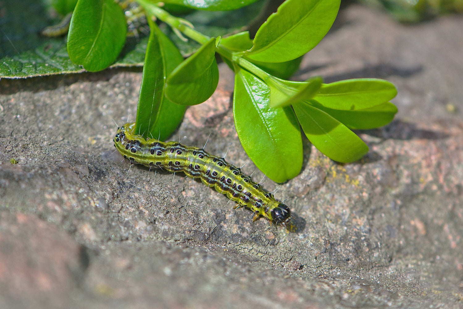
[[[181,145],[177,142],[162,142],[144,139],[135,134],[135,123],[118,128],[114,136],[114,147],[129,160],[150,168],[170,172],[184,172],[188,177],[200,178],[207,186],[237,202],[235,208],[249,208],[256,221],[263,217],[270,222],[286,225],[291,221],[288,206],[279,202],[261,185],[243,174],[240,168],[213,156],[204,149]]]

